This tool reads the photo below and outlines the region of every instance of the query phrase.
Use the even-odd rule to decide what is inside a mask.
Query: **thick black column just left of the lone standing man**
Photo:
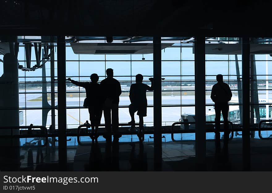
[[[195,149],[198,170],[206,167],[206,84],[205,84],[205,37],[195,37]]]

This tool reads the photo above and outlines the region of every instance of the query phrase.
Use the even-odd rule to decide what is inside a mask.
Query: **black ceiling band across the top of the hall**
[[[272,36],[272,2],[0,0],[0,3],[0,35]]]

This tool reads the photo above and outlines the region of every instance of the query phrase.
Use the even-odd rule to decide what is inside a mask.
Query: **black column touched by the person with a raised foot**
[[[154,170],[161,170],[162,162],[162,98],[161,98],[161,37],[153,37],[154,75]]]

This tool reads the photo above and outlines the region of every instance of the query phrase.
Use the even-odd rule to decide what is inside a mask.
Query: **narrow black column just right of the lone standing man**
[[[242,143],[243,170],[250,170],[250,44],[242,38]]]

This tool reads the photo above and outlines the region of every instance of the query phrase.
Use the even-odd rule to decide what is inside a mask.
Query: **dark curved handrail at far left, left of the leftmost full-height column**
[[[11,135],[0,135],[0,138],[36,138],[37,136],[39,137],[45,137],[45,143],[44,145],[41,145],[41,147],[45,147],[48,143],[48,132],[47,128],[45,126],[38,126],[38,125],[29,125],[29,126],[14,126],[14,127],[5,127],[2,126],[0,129],[11,129]],[[24,135],[13,135],[13,129],[41,129],[43,131],[42,135],[41,134],[24,134]],[[36,146],[31,146],[29,145],[28,147],[36,147]]]

